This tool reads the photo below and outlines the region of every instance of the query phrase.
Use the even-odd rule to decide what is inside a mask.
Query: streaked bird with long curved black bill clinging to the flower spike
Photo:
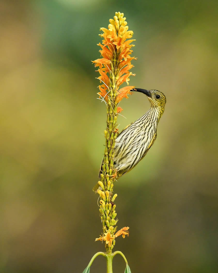
[[[143,116],[126,126],[116,138],[114,147],[114,170],[116,172],[113,175],[115,179],[131,171],[152,147],[157,137],[158,122],[166,104],[166,97],[161,91],[141,88],[134,88],[133,91],[145,94],[150,102],[150,108]],[[99,179],[101,179],[101,171],[100,168]],[[93,191],[96,192],[100,188],[97,184]]]

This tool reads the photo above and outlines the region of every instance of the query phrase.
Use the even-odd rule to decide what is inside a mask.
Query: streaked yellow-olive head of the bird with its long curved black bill
[[[137,92],[141,92],[145,94],[148,97],[151,105],[153,105],[154,107],[157,107],[159,111],[161,112],[161,115],[163,114],[164,106],[166,104],[166,97],[164,93],[158,90],[153,90],[153,89],[146,90],[146,89],[140,89],[140,88],[134,88],[133,91],[137,91]]]

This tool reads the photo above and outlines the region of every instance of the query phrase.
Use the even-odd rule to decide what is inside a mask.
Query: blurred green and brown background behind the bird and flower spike
[[[100,27],[134,31],[130,85],[167,103],[155,145],[115,185],[132,272],[218,272],[217,1],[0,1],[0,272],[80,273],[101,233],[92,192],[104,151]],[[143,115],[122,100],[120,129]],[[121,257],[114,272],[124,272]],[[91,272],[106,272],[98,257]]]

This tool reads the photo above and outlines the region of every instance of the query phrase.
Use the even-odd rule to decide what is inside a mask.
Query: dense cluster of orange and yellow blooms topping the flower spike
[[[129,76],[135,76],[129,70],[134,67],[131,64],[135,57],[131,57],[133,41],[133,31],[128,30],[126,18],[123,13],[116,12],[114,19],[110,19],[108,28],[100,28],[103,32],[99,34],[103,38],[99,52],[102,58],[92,61],[95,67],[99,66],[98,72],[100,76],[98,79],[101,82],[99,85],[100,97],[104,98],[107,103],[119,103],[127,94],[131,94],[130,90],[134,88],[124,87],[119,90],[119,86],[124,82],[129,85]],[[129,39],[129,40],[128,40]],[[108,93],[108,94],[107,94]],[[109,101],[108,101],[109,99]]]

